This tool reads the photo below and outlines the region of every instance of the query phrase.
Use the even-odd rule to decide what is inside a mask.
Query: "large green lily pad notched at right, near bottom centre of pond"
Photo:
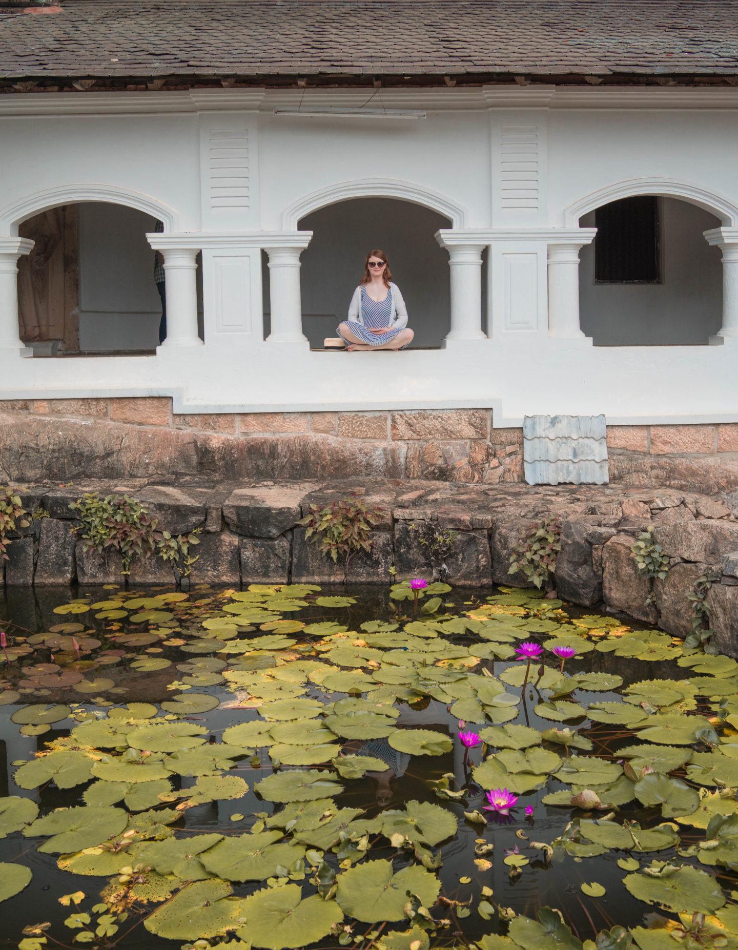
[[[367,861],[338,877],[336,902],[345,914],[365,923],[406,918],[407,891],[425,907],[438,898],[441,882],[417,864],[392,873],[391,861]]]

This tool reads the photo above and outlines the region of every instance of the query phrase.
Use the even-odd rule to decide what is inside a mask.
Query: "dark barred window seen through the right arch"
[[[595,212],[596,284],[660,284],[659,202],[653,195],[611,201]]]

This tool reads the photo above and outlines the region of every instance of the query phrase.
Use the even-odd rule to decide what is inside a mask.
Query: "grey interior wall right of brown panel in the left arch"
[[[146,240],[156,218],[121,204],[78,206],[80,349],[154,350],[161,299]]]

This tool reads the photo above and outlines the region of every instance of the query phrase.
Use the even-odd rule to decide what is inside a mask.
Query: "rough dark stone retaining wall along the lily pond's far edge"
[[[138,498],[161,528],[173,534],[201,530],[199,560],[185,585],[240,582],[335,583],[342,566],[323,558],[297,524],[311,504],[325,505],[350,491],[378,505],[384,517],[370,553],[350,565],[350,581],[392,582],[431,575],[426,548],[413,524],[457,532],[445,564],[454,585],[493,582],[525,586],[507,573],[510,556],[530,523],[557,515],[562,524],[556,585],[562,599],[602,605],[684,637],[691,630],[687,595],[706,570],[718,580],[708,596],[710,622],[722,652],[738,656],[738,521],[714,498],[671,488],[594,485],[461,485],[420,480],[354,478],[343,481],[153,484],[157,480],[85,481],[25,485],[24,506],[37,515],[9,545],[8,587],[35,584],[123,583],[120,558],[85,551],[73,531],[69,504],[85,491]],[[40,517],[39,517],[40,516]],[[631,548],[639,533],[653,537],[670,559],[665,580],[639,576]],[[134,561],[131,584],[170,585],[171,565]]]

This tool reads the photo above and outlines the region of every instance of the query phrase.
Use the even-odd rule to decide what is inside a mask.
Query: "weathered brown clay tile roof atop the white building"
[[[0,78],[738,74],[738,0],[58,2],[0,8]]]

